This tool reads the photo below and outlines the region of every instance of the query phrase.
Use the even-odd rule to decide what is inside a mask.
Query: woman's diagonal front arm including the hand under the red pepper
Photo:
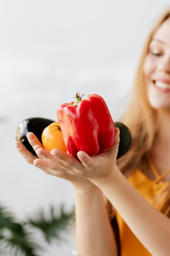
[[[56,152],[59,153],[58,159],[62,163],[71,166],[72,173],[86,177],[102,190],[152,255],[169,256],[170,219],[150,205],[121,174],[116,165],[118,145],[119,136],[116,137],[113,148],[103,155],[90,157],[85,152],[78,152],[82,166],[59,150]]]

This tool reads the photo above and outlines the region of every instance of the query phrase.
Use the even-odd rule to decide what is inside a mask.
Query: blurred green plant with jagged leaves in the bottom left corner
[[[0,204],[0,255],[4,256],[10,250],[10,255],[13,256],[38,256],[37,249],[44,248],[34,242],[33,228],[42,231],[48,243],[52,240],[56,242],[63,239],[62,231],[67,231],[72,227],[71,220],[74,221],[74,211],[66,213],[64,207],[61,206],[60,214],[55,212],[53,206],[50,207],[49,214],[40,209],[37,214],[34,214],[35,218],[27,218],[19,223],[7,207]]]

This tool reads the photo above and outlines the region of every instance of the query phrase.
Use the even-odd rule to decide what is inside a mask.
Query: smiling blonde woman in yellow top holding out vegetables
[[[113,216],[115,209],[121,256],[169,256],[170,11],[148,37],[132,102],[121,121],[130,128],[133,143],[117,162],[118,128],[113,148],[95,157],[79,151],[80,161],[57,149],[50,153],[31,132],[27,137],[39,158],[19,141],[16,146],[27,162],[72,183],[78,254],[119,254],[105,195]]]

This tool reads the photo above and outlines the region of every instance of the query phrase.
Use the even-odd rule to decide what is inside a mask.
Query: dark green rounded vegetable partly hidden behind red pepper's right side
[[[130,134],[130,130],[126,125],[124,125],[121,122],[114,122],[115,127],[118,127],[120,130],[120,142],[119,142],[119,149],[117,154],[117,159],[122,157],[126,154],[126,152],[129,150],[131,142],[132,142],[132,136]]]

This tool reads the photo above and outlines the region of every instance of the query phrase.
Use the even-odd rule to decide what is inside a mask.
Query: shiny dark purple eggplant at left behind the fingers
[[[33,154],[36,155],[35,151],[31,147],[26,138],[26,134],[28,132],[33,132],[35,136],[39,139],[42,143],[41,135],[43,130],[49,126],[49,124],[53,123],[54,121],[51,119],[46,119],[42,117],[31,117],[28,119],[24,119],[19,125],[16,130],[16,140],[19,140],[24,144],[24,146]]]

